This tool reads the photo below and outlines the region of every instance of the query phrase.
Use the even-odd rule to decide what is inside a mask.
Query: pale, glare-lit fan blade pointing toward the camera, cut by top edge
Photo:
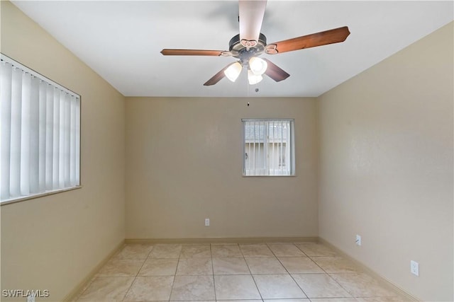
[[[240,0],[238,17],[240,19],[240,43],[244,47],[257,45],[266,6],[266,0]]]

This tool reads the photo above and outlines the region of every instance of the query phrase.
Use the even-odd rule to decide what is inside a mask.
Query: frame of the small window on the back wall
[[[286,149],[286,155],[285,156],[289,156],[288,158],[288,162],[289,162],[289,174],[269,174],[270,173],[270,167],[267,167],[267,169],[265,169],[265,171],[267,171],[268,174],[264,174],[264,175],[250,175],[250,174],[247,174],[246,173],[246,159],[248,159],[248,156],[246,156],[246,144],[248,144],[246,142],[246,133],[245,133],[245,122],[266,122],[267,123],[267,129],[269,129],[270,127],[270,122],[289,122],[289,142],[286,142],[285,143],[285,149]],[[296,174],[296,160],[295,160],[295,135],[294,135],[294,118],[244,118],[244,119],[241,119],[241,124],[242,124],[242,127],[241,127],[241,132],[242,132],[242,141],[241,141],[241,144],[242,144],[242,151],[243,151],[243,169],[242,169],[242,176],[245,177],[245,178],[250,178],[250,177],[258,177],[258,178],[262,178],[262,177],[265,177],[265,178],[270,178],[270,177],[295,177],[297,176]],[[268,131],[268,130],[267,130]],[[267,142],[269,141],[269,136],[267,137]],[[250,144],[250,143],[249,143]],[[265,146],[265,145],[264,145]],[[264,148],[265,149],[268,149],[267,147]],[[264,151],[265,152],[265,151]],[[266,151],[268,152],[268,151]],[[265,156],[265,155],[264,155]],[[269,156],[269,154],[268,154]],[[280,154],[277,156],[277,159],[278,159],[278,165],[280,163]],[[250,156],[249,156],[250,157]],[[280,167],[280,165],[279,165]]]

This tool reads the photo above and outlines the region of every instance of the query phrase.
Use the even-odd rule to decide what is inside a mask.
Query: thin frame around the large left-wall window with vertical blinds
[[[0,60],[2,62],[6,62],[8,64],[11,64],[12,66],[16,66],[19,69],[22,69],[22,71],[24,71],[24,72],[26,72],[28,74],[31,74],[35,78],[40,79],[40,81],[45,81],[48,84],[54,86],[55,88],[58,88],[61,91],[65,91],[65,93],[73,95],[79,101],[79,110],[78,110],[78,115],[79,116],[78,116],[78,119],[76,120],[78,122],[78,125],[79,125],[79,134],[78,134],[79,141],[77,143],[79,145],[78,146],[79,148],[76,149],[77,152],[78,152],[78,155],[79,155],[78,156],[78,160],[77,160],[77,163],[78,163],[78,169],[77,169],[77,171],[78,171],[77,172],[78,173],[78,181],[77,181],[77,185],[72,185],[72,186],[67,186],[67,187],[62,187],[62,188],[57,188],[57,189],[52,189],[52,190],[45,190],[45,192],[31,193],[31,194],[28,194],[28,195],[21,195],[21,196],[18,196],[18,197],[11,197],[9,199],[4,199],[4,200],[0,199],[0,207],[3,207],[5,205],[7,205],[7,204],[14,204],[16,202],[23,202],[23,201],[30,200],[30,199],[45,197],[45,196],[52,195],[52,194],[58,194],[58,193],[72,191],[72,190],[77,190],[77,189],[82,188],[82,96],[79,95],[78,93],[75,93],[74,91],[71,91],[69,88],[66,88],[65,86],[62,86],[60,83],[52,81],[48,77],[43,76],[43,74],[40,74],[38,71],[35,71],[35,70],[33,70],[33,69],[21,64],[21,62],[18,62],[15,59],[12,59],[11,57],[6,56],[3,53],[0,53]]]

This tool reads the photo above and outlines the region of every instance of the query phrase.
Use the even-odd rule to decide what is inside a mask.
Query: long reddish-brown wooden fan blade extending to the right
[[[350,35],[350,31],[348,31],[347,26],[344,26],[342,28],[335,28],[332,30],[322,31],[320,33],[313,33],[311,35],[303,35],[289,40],[270,43],[265,47],[265,52],[267,54],[277,54],[343,42],[347,39],[348,35]]]

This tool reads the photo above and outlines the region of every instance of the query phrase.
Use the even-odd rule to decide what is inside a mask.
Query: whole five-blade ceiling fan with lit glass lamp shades
[[[271,79],[277,82],[287,79],[290,76],[270,60],[261,59],[259,56],[263,52],[266,54],[280,54],[282,52],[292,52],[293,50],[328,45],[343,42],[350,35],[348,27],[344,26],[267,44],[267,38],[260,33],[266,4],[266,0],[239,0],[238,21],[240,23],[240,33],[231,38],[228,43],[228,51],[164,49],[161,53],[165,56],[235,57],[238,59],[237,62],[228,64],[221,69],[221,71],[206,81],[204,86],[214,85],[218,81],[221,81],[224,76],[234,82],[243,68],[248,70],[248,81],[253,85],[262,81],[262,74],[270,76]]]

